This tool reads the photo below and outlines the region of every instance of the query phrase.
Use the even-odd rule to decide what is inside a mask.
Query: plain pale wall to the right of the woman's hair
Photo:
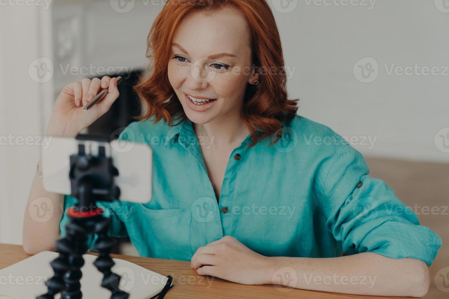
[[[449,133],[449,9],[433,0],[378,0],[372,9],[368,0],[295,3],[291,13],[273,12],[286,66],[296,67],[288,91],[300,99],[298,113],[344,136],[377,136],[372,149],[355,146],[364,155],[449,162],[434,142],[439,130]],[[374,82],[353,74],[364,57],[379,64]],[[389,76],[384,64],[440,66],[445,76]]]

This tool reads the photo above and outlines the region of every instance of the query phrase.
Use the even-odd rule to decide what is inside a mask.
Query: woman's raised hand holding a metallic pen
[[[107,95],[97,104],[84,111],[100,89],[108,89]],[[53,107],[53,113],[47,126],[48,136],[75,137],[84,128],[90,126],[105,114],[119,97],[117,78],[84,78],[81,82],[72,82],[64,87]]]

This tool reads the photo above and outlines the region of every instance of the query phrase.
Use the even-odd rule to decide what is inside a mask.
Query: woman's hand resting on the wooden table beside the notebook
[[[269,257],[262,256],[236,238],[225,236],[199,247],[190,266],[199,275],[210,275],[245,285],[271,283]]]

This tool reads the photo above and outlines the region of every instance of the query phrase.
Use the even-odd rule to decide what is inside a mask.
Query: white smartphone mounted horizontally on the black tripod
[[[120,200],[148,203],[152,196],[153,152],[145,143],[127,140],[95,139],[78,135],[76,139],[51,136],[48,144],[42,145],[42,180],[48,192],[71,194],[70,156],[78,154],[79,145],[84,145],[86,155],[97,156],[99,147],[104,147],[106,157],[111,157],[119,175],[114,185],[120,188]],[[102,149],[101,149],[102,150]]]

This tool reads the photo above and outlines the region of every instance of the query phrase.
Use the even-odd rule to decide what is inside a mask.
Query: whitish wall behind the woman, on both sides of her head
[[[437,149],[434,137],[449,127],[449,76],[388,76],[384,64],[449,65],[449,13],[440,12],[431,0],[378,0],[372,9],[324,1],[331,5],[291,0],[295,9],[281,13],[274,8],[279,9],[279,2],[273,0],[273,6],[269,0],[286,67],[295,68],[288,91],[291,98],[301,99],[299,113],[344,136],[377,137],[372,149],[356,145],[366,156],[448,162],[449,154]],[[153,1],[160,2],[165,1]],[[145,65],[146,35],[162,5],[136,0],[129,2],[135,5],[130,12],[118,13],[107,0],[83,3],[89,7],[81,9],[86,17],[81,40],[88,46],[72,55],[70,63]],[[57,12],[55,19],[63,17]],[[51,35],[58,27],[52,28],[49,13],[51,9],[36,6],[0,9],[0,136],[42,135],[58,89],[73,81],[55,75],[36,83],[28,74],[31,61],[53,57]],[[374,82],[361,83],[353,74],[364,57],[379,64]],[[0,146],[1,243],[22,243],[23,213],[39,154],[37,145]]]

